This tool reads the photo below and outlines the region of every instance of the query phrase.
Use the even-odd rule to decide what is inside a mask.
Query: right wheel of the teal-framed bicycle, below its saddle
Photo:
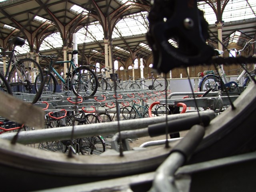
[[[95,73],[86,66],[80,66],[72,74],[72,89],[76,96],[94,96],[98,89]]]

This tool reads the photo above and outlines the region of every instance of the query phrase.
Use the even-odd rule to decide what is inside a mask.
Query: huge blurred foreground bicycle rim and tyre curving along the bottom
[[[234,102],[235,109],[227,109],[210,122],[210,125],[206,127],[204,139],[187,164],[242,154],[248,149],[256,148],[256,130],[252,126],[256,114],[256,96],[248,94],[255,91],[256,85],[250,85],[241,94],[241,98],[239,97]],[[180,121],[184,120],[180,119]],[[246,131],[244,130],[245,126],[248,128]],[[232,142],[234,138],[237,138],[238,142],[237,140]],[[5,157],[0,159],[0,168],[6,178],[12,178],[12,182],[20,180],[19,177],[13,175],[17,173],[22,173],[25,178],[30,176],[30,183],[31,181],[36,182],[38,179],[48,179],[46,176],[51,176],[54,181],[51,183],[54,184],[46,185],[44,183],[41,186],[37,184],[33,189],[38,190],[63,186],[63,182],[74,180],[74,178],[78,184],[85,183],[86,179],[88,179],[86,182],[93,182],[110,177],[117,178],[154,171],[167,158],[171,150],[172,147],[163,148],[161,146],[148,150],[133,150],[124,158],[119,154],[106,154],[101,158],[98,156],[88,156],[86,159],[81,156],[67,158],[64,154],[49,154],[49,152],[35,150],[22,144],[13,145],[0,139],[0,154]],[[53,160],[50,160],[49,157]],[[72,184],[74,182],[69,183],[69,185]]]

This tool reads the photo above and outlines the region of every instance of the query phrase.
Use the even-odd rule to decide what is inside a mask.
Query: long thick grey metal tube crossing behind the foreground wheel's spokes
[[[208,114],[211,119],[214,118],[214,111],[206,110],[200,111],[202,114]],[[198,115],[197,112],[184,113],[184,114],[172,114],[168,115],[167,120],[174,120],[179,118],[185,118],[188,116]],[[120,121],[120,130],[136,130],[140,128],[146,128],[148,125],[156,124],[166,121],[166,116],[152,117],[152,118],[141,118],[133,120]],[[72,126],[49,128],[42,130],[33,131],[22,131],[18,136],[18,143],[32,144],[45,141],[54,140],[68,140],[70,139],[72,132]],[[76,125],[74,126],[74,138],[97,136],[105,134],[115,134],[118,132],[118,122],[104,122],[96,124]],[[0,135],[0,138],[12,140],[16,133],[6,133]]]

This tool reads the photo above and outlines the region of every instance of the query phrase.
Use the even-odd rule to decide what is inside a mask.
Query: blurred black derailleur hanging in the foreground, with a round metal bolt
[[[202,64],[214,56],[206,44],[208,23],[197,1],[155,0],[148,20],[146,38],[158,72]]]

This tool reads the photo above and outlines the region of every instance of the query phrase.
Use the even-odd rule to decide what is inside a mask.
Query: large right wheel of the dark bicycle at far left
[[[42,68],[35,60],[24,58],[18,61],[10,70],[8,82],[12,94],[20,100],[36,102],[41,96],[40,84],[36,85],[36,78],[43,80]]]

